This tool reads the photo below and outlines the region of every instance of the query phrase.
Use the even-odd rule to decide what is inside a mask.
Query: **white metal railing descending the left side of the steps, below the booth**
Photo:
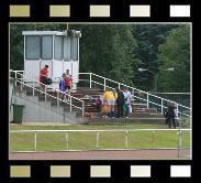
[[[37,90],[37,92],[40,92],[40,93],[44,93],[44,95],[45,95],[45,101],[47,100],[47,96],[49,96],[49,97],[55,98],[55,99],[57,100],[57,106],[59,106],[59,101],[65,103],[65,104],[67,104],[67,105],[70,106],[70,112],[72,111],[72,107],[75,107],[75,108],[81,110],[82,117],[85,116],[85,101],[83,101],[83,100],[81,100],[81,99],[79,99],[79,98],[76,98],[76,97],[74,97],[74,96],[71,96],[71,95],[68,95],[68,94],[66,94],[66,93],[64,94],[64,93],[62,93],[60,90],[51,87],[49,85],[45,85],[45,84],[40,83],[38,80],[34,79],[34,78],[31,78],[30,76],[26,76],[26,75],[24,75],[24,74],[21,74],[21,73],[24,73],[23,71],[11,71],[11,73],[12,73],[12,72],[14,73],[15,86],[16,86],[16,83],[20,83],[21,90],[23,89],[23,86],[27,86],[27,87],[30,87],[30,88],[33,89],[33,96],[35,96],[35,90]],[[18,78],[18,76],[20,76],[20,78]],[[29,78],[29,79],[32,82],[32,85],[29,85],[27,83],[25,83],[25,82],[24,82],[25,78]],[[29,82],[29,83],[31,83],[31,82]],[[38,84],[40,84],[40,85],[44,85],[44,86],[45,86],[45,92],[42,92],[41,89],[37,89],[37,88],[35,87],[35,83],[36,83],[37,85],[38,85]],[[54,92],[56,92],[56,93],[57,93],[57,96],[55,97],[55,96],[48,94],[48,93],[47,93],[47,88],[48,88],[48,89],[53,89]],[[60,98],[59,98],[59,94],[63,94],[63,95],[65,95],[65,96],[69,96],[70,101],[66,101],[66,100],[60,99]],[[80,103],[81,103],[81,107],[78,107],[78,106],[74,105],[74,104],[72,104],[72,99],[80,101]]]

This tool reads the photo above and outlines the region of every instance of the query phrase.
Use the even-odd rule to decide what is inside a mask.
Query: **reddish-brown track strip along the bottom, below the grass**
[[[181,155],[189,155],[190,150],[182,150]],[[12,152],[10,160],[171,160],[177,159],[177,150],[101,150],[67,152]]]

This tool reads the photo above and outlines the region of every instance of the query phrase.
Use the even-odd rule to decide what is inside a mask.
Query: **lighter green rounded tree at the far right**
[[[164,44],[158,58],[163,62],[157,75],[157,87],[161,92],[190,92],[190,25],[174,29]],[[164,69],[174,67],[174,72]]]

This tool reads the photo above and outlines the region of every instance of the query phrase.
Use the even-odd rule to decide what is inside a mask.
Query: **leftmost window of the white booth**
[[[37,35],[26,35],[25,39],[25,57],[26,60],[40,60],[41,57],[41,39]]]

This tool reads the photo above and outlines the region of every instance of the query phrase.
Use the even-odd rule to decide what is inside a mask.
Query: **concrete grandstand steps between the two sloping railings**
[[[44,107],[48,107],[49,110],[55,111],[62,116],[65,116],[64,122],[69,123],[86,123],[86,125],[105,125],[105,123],[148,123],[148,125],[165,125],[165,118],[155,108],[147,108],[146,104],[135,104],[132,103],[132,112],[130,118],[102,118],[102,114],[96,109],[92,99],[100,98],[102,90],[94,88],[77,88],[72,90],[71,96],[77,97],[85,101],[85,112],[92,112],[93,118],[82,117],[81,110],[72,107],[70,112],[69,104],[59,103],[57,99],[51,96],[46,97],[40,92],[34,92],[30,87],[23,87],[22,90],[20,86],[14,87],[14,95],[19,97],[26,98],[27,100],[34,101],[35,104]],[[54,90],[48,90],[47,94],[56,97],[57,94]],[[82,103],[72,98],[72,105],[81,107]],[[116,114],[116,106],[115,106]],[[182,122],[186,126],[186,122]],[[178,122],[177,122],[178,126]]]

